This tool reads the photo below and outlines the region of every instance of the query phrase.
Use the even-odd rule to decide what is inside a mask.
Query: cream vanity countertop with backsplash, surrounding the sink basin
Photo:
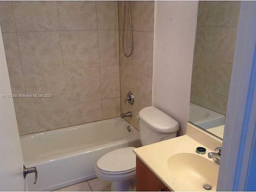
[[[172,191],[192,191],[195,188],[188,188],[186,184],[181,184],[180,180],[177,180],[176,176],[171,173],[168,168],[168,158],[178,153],[196,153],[196,147],[203,146],[206,148],[206,154],[200,155],[208,160],[208,152],[214,151],[215,147],[222,146],[222,142],[210,136],[207,133],[202,133],[202,130],[198,130],[189,125],[189,131],[184,136],[179,136],[169,140],[164,140],[154,144],[142,146],[134,149],[134,153],[146,164],[146,166]],[[194,132],[193,129],[196,129]],[[195,140],[194,136],[205,134],[204,138]],[[208,140],[208,141],[207,141]],[[210,142],[207,148],[206,142]],[[214,146],[214,147],[213,147]],[[198,155],[198,154],[197,154]],[[185,174],[185,173],[184,173]]]

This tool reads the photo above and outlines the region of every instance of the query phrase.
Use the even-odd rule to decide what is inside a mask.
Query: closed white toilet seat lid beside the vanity
[[[135,147],[125,147],[113,150],[102,156],[97,166],[104,172],[132,172],[136,170]]]

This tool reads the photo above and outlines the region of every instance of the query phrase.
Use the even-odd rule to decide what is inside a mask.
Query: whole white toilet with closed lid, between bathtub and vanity
[[[174,138],[179,124],[176,120],[150,106],[139,112],[140,142],[142,146]],[[136,178],[134,147],[113,150],[102,156],[95,165],[96,176],[111,181],[112,191],[129,191]]]

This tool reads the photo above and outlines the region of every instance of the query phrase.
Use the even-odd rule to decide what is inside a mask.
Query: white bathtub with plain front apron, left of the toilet
[[[20,136],[24,165],[36,166],[38,180],[28,174],[29,191],[51,191],[95,178],[94,165],[117,148],[139,147],[138,130],[121,118]]]

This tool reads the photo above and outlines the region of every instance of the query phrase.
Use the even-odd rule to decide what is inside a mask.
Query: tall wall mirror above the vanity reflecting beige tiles
[[[238,1],[199,1],[189,121],[223,138]]]

